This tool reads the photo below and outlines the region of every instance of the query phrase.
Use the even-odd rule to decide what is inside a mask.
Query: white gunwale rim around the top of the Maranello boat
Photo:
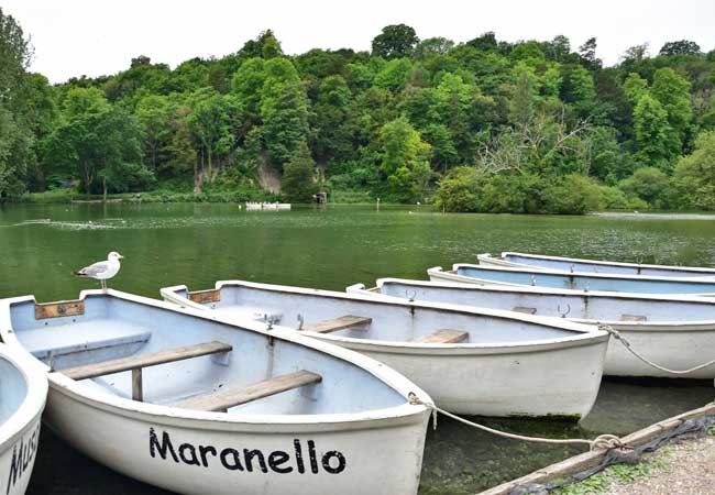
[[[266,414],[237,414],[237,413],[211,413],[191,409],[180,409],[169,405],[160,405],[151,403],[140,403],[131,398],[120,397],[106,392],[95,391],[84,385],[81,381],[75,381],[62,373],[52,372],[42,361],[32,356],[15,337],[11,324],[11,307],[13,305],[33,302],[37,304],[34,296],[20,296],[0,299],[0,338],[9,348],[22,351],[29,359],[35,360],[35,365],[40,365],[47,373],[48,386],[52,391],[72,396],[74,399],[84,404],[94,405],[99,409],[119,414],[124,417],[136,418],[136,416],[151,419],[153,422],[162,424],[157,418],[164,418],[164,422],[173,422],[176,426],[186,428],[199,428],[211,430],[226,430],[232,426],[235,431],[256,431],[256,427],[265,427],[265,432],[276,431],[276,427],[285,427],[286,431],[297,431],[296,427],[302,426],[306,431],[314,431],[314,428],[320,427],[320,431],[327,431],[326,426],[331,428],[344,429],[345,425],[359,426],[365,424],[365,428],[372,428],[372,422],[387,421],[385,427],[394,425],[394,421],[402,419],[406,424],[420,422],[422,417],[430,413],[430,409],[421,404],[411,404],[409,394],[414,393],[422,400],[431,402],[429,395],[416,384],[400,375],[384,364],[338,345],[321,342],[307,336],[296,334],[293,330],[280,327],[273,327],[271,330],[260,328],[262,323],[245,321],[237,324],[218,315],[210,316],[206,311],[199,311],[195,308],[178,307],[175,304],[165,302],[157,299],[151,299],[143,296],[136,296],[116,289],[108,289],[106,293],[101,289],[82,290],[77,300],[84,301],[88,297],[111,296],[119,299],[129,300],[147,306],[179,312],[193,318],[202,320],[217,321],[228,324],[229,327],[241,328],[244,331],[261,333],[267,338],[280,339],[298,345],[304,345],[316,352],[328,354],[332,358],[345,361],[361,371],[371,374],[377,378],[384,386],[392,388],[396,394],[405,399],[405,403],[356,413],[339,414],[314,414],[314,415],[266,415]],[[72,318],[72,317],[67,317]],[[370,425],[370,426],[369,426]],[[244,426],[244,428],[240,428]],[[356,429],[356,428],[355,428]],[[298,429],[300,430],[300,429]],[[300,430],[302,431],[302,430]]]

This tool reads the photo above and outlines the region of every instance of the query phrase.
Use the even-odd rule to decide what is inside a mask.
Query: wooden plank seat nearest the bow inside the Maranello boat
[[[270,397],[272,395],[280,394],[282,392],[292,391],[321,381],[322,376],[301,370],[287,375],[264,380],[263,382],[249,385],[248,387],[229,388],[228,391],[221,391],[211,395],[184,400],[179,404],[175,404],[174,407],[205,411],[226,411],[231,407],[240,406],[241,404],[246,404],[263,397]]]

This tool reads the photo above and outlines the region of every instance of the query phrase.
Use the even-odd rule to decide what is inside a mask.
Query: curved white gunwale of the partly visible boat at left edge
[[[34,420],[41,417],[47,402],[48,383],[42,366],[18,351],[8,343],[0,343],[0,358],[18,370],[28,389],[20,406],[0,425],[0,451],[18,442]]]

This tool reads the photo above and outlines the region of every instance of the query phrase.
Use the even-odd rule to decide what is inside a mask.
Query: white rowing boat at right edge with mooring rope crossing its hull
[[[351,294],[398,297],[608,324],[639,352],[670,370],[690,370],[715,358],[715,301],[693,296],[663,297],[548,289],[477,286],[381,278],[374,288],[358,284]],[[647,365],[615,339],[608,344],[606,375],[715,378],[715,364],[673,375]]]

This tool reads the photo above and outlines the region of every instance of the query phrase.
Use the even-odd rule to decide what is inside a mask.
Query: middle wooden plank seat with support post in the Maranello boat
[[[65,370],[59,370],[59,373],[73,380],[87,380],[129,370],[155,366],[157,364],[189,360],[191,358],[200,358],[202,355],[229,352],[231,350],[233,350],[231,345],[213,341],[196,345],[167,349],[166,351],[154,352],[151,354],[134,355],[119,360],[87,364],[84,366],[67,367]]]

